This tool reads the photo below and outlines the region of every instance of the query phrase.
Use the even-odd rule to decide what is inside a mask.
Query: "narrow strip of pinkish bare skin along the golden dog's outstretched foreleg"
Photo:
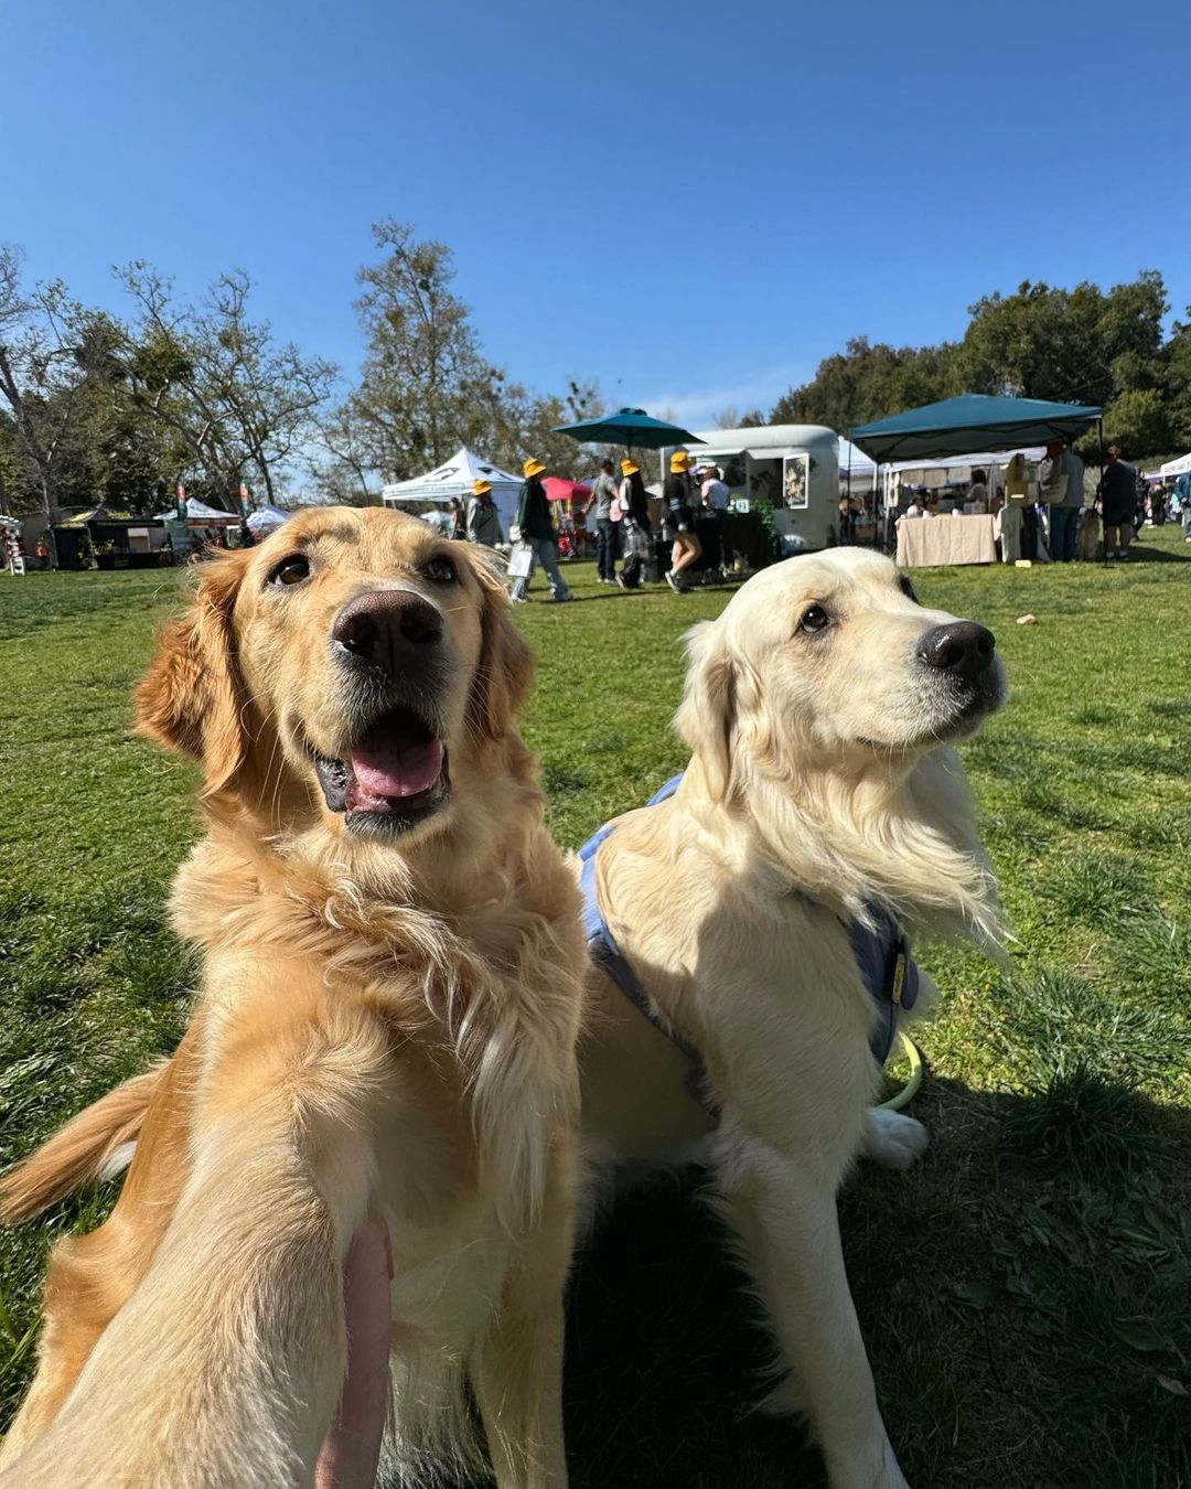
[[[372,1489],[389,1409],[389,1227],[372,1211],[344,1261],[347,1373],[335,1422],[314,1470],[314,1489]]]

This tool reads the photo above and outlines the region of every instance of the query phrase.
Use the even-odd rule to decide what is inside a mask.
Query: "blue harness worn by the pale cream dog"
[[[660,801],[665,801],[673,797],[679,789],[680,782],[682,774],[667,780],[661,791],[649,798],[648,806],[654,807]],[[596,832],[594,837],[588,838],[588,841],[579,849],[579,859],[582,862],[579,887],[584,895],[584,931],[587,932],[588,956],[597,966],[601,966],[607,972],[630,1004],[643,1013],[654,1027],[661,1030],[661,1033],[664,1033],[665,1038],[686,1056],[692,1068],[691,1075],[688,1077],[688,1090],[695,1100],[700,1102],[700,1105],[712,1111],[712,1103],[707,1100],[706,1094],[706,1071],[703,1056],[698,1053],[695,1045],[691,1044],[683,1033],[671,1027],[651,1004],[649,995],[642,987],[637,974],[628,963],[628,957],[625,957],[616,946],[616,940],[609,931],[603,910],[600,908],[600,896],[596,890],[596,855],[600,850],[600,844],[613,832],[613,829],[615,823],[606,822],[600,831]],[[877,1063],[884,1065],[898,1033],[898,1010],[913,1008],[919,1001],[919,969],[914,965],[914,959],[910,956],[910,946],[905,940],[905,932],[893,916],[877,907],[869,907],[869,916],[872,919],[874,929],[860,925],[858,920],[853,920],[847,929],[852,941],[852,954],[856,957],[856,966],[869,998],[877,1005],[877,1023],[868,1038],[868,1047],[872,1050],[872,1057]]]

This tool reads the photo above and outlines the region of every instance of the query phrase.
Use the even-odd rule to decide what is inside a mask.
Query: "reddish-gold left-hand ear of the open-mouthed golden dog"
[[[180,621],[170,621],[135,694],[141,734],[202,761],[205,795],[220,791],[244,762],[244,691],[235,661],[232,606],[247,554],[211,558]]]

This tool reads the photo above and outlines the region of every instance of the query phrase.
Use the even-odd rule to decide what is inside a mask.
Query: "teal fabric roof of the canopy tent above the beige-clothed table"
[[[1023,450],[1050,439],[1076,439],[1100,417],[1091,404],[1048,404],[1038,398],[963,393],[910,408],[849,430],[869,459],[941,460],[983,450]]]

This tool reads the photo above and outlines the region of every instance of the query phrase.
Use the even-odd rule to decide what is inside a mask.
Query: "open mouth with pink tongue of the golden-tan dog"
[[[447,749],[414,709],[389,709],[339,759],[313,755],[328,807],[351,829],[403,831],[450,795]]]

